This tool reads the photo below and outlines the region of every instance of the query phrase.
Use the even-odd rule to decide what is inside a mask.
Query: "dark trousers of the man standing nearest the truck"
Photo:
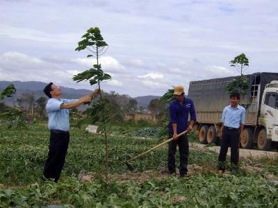
[[[218,157],[218,162],[220,164],[218,170],[225,171],[224,162],[226,161],[229,146],[231,146],[231,165],[238,166],[239,135],[239,128],[224,127],[221,139],[221,148]]]

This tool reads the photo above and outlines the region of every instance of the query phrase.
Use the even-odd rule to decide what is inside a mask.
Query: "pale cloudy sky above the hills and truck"
[[[74,50],[91,27],[108,44],[106,92],[187,92],[190,81],[238,75],[229,61],[241,53],[245,74],[278,72],[277,0],[0,0],[0,80],[95,89],[72,80],[95,62]]]

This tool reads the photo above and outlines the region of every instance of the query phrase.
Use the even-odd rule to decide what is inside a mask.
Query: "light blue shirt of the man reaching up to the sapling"
[[[49,98],[46,105],[49,130],[70,130],[70,110],[60,109],[63,103],[72,103],[78,100]]]

